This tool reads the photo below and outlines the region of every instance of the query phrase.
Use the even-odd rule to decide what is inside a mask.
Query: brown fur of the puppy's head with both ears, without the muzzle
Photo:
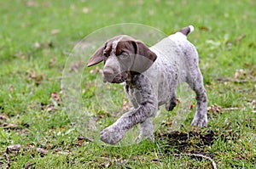
[[[119,56],[122,53],[129,55],[132,62],[130,70],[137,73],[147,70],[157,58],[154,52],[143,42],[126,35],[120,35],[109,39],[101,48],[98,48],[87,66],[96,65],[103,60],[106,61],[111,54]]]

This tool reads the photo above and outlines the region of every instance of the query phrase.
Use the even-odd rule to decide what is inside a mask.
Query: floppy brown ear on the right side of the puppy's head
[[[157,56],[143,42],[134,42],[134,48],[136,55],[131,70],[142,73],[153,65]]]

